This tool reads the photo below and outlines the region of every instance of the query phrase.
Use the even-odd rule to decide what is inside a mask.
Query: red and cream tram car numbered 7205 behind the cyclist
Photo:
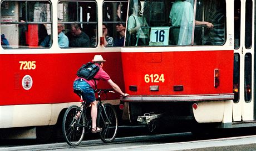
[[[108,26],[110,37],[119,37],[116,25],[125,26],[127,4],[101,0],[1,1],[1,139],[44,140],[61,131],[55,128],[61,128],[67,107],[80,103],[72,88],[76,72],[96,54],[107,60],[104,70],[124,90],[121,49],[104,45],[102,23],[104,28]],[[66,40],[58,41],[60,33]],[[80,33],[87,39],[76,43]],[[111,88],[106,82],[97,87]],[[107,100],[118,108],[119,97],[115,93]]]

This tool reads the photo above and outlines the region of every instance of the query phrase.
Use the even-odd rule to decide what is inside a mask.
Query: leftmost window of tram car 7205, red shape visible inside
[[[10,4],[9,2],[13,3],[14,6],[15,6],[15,3],[18,3],[18,9],[13,8],[14,10],[9,10],[9,11],[5,10],[6,12],[3,11],[4,9],[1,9],[1,35],[4,35],[4,37],[7,35],[5,38],[9,44],[9,45],[6,45],[1,43],[2,48],[3,49],[49,49],[51,48],[52,46],[52,3],[51,1],[4,0],[1,2],[1,8],[6,7],[6,9],[11,9],[9,7],[9,4]],[[45,16],[44,16],[46,17],[45,20],[41,21],[41,19],[43,18],[33,18],[37,20],[29,20],[30,19],[29,15],[31,15],[31,12],[29,12],[31,9],[29,9],[29,7],[34,8],[34,7],[31,7],[31,3],[46,4],[46,5],[48,4],[48,8],[46,7],[45,12],[39,12],[39,13],[45,13]],[[24,8],[21,8],[21,7],[24,7]],[[20,11],[20,12],[16,13],[15,9],[17,9],[17,11]],[[47,9],[50,9],[50,10],[47,10]],[[35,9],[33,10],[34,12],[32,13],[38,13],[38,12],[35,12]],[[6,20],[4,20],[4,16],[6,16]],[[13,21],[13,19],[15,20]],[[7,28],[8,30],[8,27],[17,28],[17,29],[14,29],[14,30],[11,29],[11,30],[14,32],[17,32],[17,31],[18,32],[16,34],[12,33],[13,35],[11,36],[10,34],[8,34],[9,32],[6,33],[4,30],[4,28]],[[38,36],[35,38],[34,36],[35,33],[29,33],[29,30],[31,30],[31,32],[35,32],[37,30]],[[16,40],[17,34],[18,34],[18,40]],[[33,36],[29,38],[30,34]],[[8,35],[10,37],[8,37]],[[50,45],[40,46],[41,42],[45,40],[47,36],[50,36],[50,39],[48,39],[47,41],[48,43],[51,42]],[[16,41],[16,42],[13,42],[13,41]],[[18,43],[18,44],[13,45],[13,43]]]

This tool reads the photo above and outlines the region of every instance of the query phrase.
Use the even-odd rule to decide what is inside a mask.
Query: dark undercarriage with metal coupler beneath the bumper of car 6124
[[[145,124],[150,132],[163,127],[180,127],[193,121],[191,102],[129,102],[129,119],[132,124]]]

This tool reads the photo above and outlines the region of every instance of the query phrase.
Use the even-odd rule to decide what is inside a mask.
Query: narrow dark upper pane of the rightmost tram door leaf
[[[250,49],[252,46],[252,24],[253,23],[253,2],[245,2],[245,48]]]

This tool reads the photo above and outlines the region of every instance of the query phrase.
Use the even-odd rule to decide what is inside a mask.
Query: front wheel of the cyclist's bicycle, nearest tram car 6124
[[[100,139],[104,143],[111,143],[116,138],[117,134],[117,114],[114,106],[105,104],[104,109],[100,110],[97,118],[97,126],[102,128],[100,132]]]

